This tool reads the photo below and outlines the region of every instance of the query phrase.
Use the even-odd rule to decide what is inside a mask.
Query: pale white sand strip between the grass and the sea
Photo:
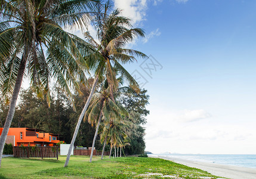
[[[232,165],[221,165],[217,163],[207,163],[207,162],[198,162],[198,161],[188,161],[178,158],[170,158],[163,156],[149,155],[151,158],[161,158],[175,163],[180,163],[187,165],[193,168],[199,168],[203,171],[207,171],[212,175],[217,175],[219,177],[233,178],[233,179],[256,179],[256,169],[245,168],[240,166]]]

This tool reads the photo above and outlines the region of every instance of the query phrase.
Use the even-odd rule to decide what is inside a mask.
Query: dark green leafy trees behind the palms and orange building
[[[88,80],[90,85],[92,84],[92,80],[93,79]],[[53,94],[51,95],[51,107],[48,106],[46,99],[39,99],[36,96],[36,93],[33,92],[32,88],[22,90],[20,103],[17,105],[11,127],[42,129],[47,132],[53,132],[54,134],[60,134],[61,140],[64,140],[66,143],[70,143],[71,134],[75,130],[78,116],[82,111],[82,107],[84,107],[84,103],[88,98],[89,92],[90,90],[84,85],[80,86],[80,91],[75,91],[75,94],[73,94],[76,106],[75,112],[69,99],[58,87],[54,87]],[[127,129],[125,132],[128,132],[130,145],[125,146],[125,153],[134,155],[144,153],[145,129],[141,124],[146,123],[145,117],[149,113],[149,111],[146,110],[146,105],[149,104],[149,95],[146,95],[146,90],[141,90],[139,94],[135,91],[133,93],[131,92],[131,89],[127,92],[122,92],[122,95],[119,95],[119,97],[116,98],[116,103],[121,104],[129,112],[129,118],[126,119],[129,121],[129,126],[122,124],[125,128],[129,128],[129,130]],[[0,127],[3,127],[7,113],[8,105],[1,100]],[[120,123],[117,119],[115,119],[115,121],[113,121],[114,119],[109,121],[109,119],[104,117],[104,121],[106,122],[102,124],[102,128],[108,129],[111,124],[118,125]],[[82,122],[75,145],[91,147],[94,133],[95,128],[92,127],[91,124],[87,121]],[[109,140],[111,140],[111,138],[109,138]],[[100,142],[99,134],[95,143],[96,149],[102,149],[102,141]],[[107,145],[106,150],[109,149],[110,146]]]

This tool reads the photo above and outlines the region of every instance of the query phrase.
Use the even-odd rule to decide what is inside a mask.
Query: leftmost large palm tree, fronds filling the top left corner
[[[49,103],[51,77],[69,96],[70,85],[78,86],[78,78],[84,81],[81,65],[87,48],[79,53],[78,38],[61,26],[84,26],[92,7],[89,0],[0,1],[0,83],[3,95],[11,96],[0,139],[0,166],[24,73],[39,97],[47,94]]]

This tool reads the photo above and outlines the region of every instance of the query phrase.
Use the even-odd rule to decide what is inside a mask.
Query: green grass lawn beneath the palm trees
[[[115,158],[66,156],[52,159],[3,158],[0,178],[218,178],[208,172],[155,158]]]

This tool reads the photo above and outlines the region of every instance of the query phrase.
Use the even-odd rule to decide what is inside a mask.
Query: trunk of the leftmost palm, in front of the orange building
[[[13,89],[13,95],[11,97],[10,107],[8,110],[7,118],[5,120],[4,129],[2,130],[2,134],[0,138],[0,168],[1,168],[1,162],[2,162],[2,152],[4,151],[4,144],[7,138],[9,128],[11,126],[11,121],[13,121],[16,102],[17,102],[18,94],[20,93],[20,87],[21,87],[21,83],[24,75],[24,70],[26,68],[26,62],[27,62],[26,54],[23,54],[21,58],[20,68],[18,69],[17,79]]]

